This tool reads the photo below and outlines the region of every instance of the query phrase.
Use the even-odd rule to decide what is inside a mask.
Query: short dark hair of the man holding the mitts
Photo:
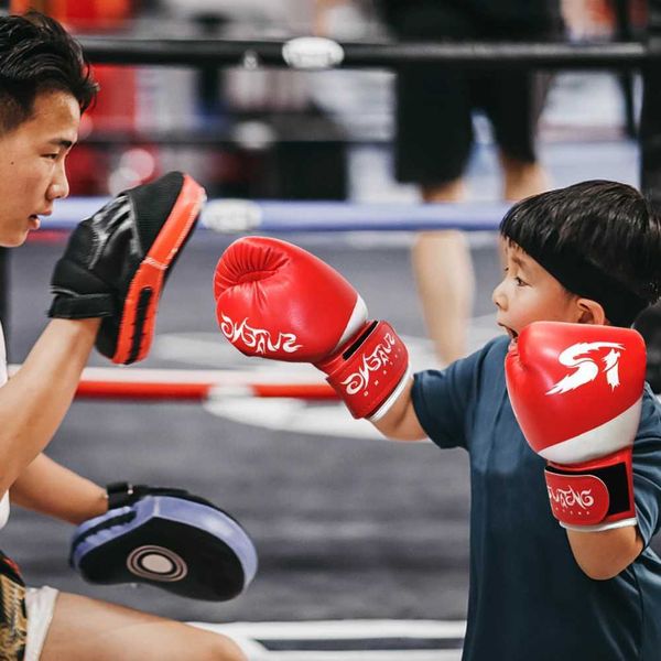
[[[39,12],[0,17],[0,133],[32,117],[35,97],[66,91],[86,110],[98,86],[78,43]]]

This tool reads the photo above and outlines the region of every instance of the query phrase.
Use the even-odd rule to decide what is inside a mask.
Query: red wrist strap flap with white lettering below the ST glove
[[[600,523],[609,507],[606,485],[594,475],[566,475],[545,470],[554,517],[570,525]]]

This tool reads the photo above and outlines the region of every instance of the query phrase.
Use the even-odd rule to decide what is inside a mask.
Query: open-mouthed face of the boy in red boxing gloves
[[[584,312],[578,296],[511,241],[505,241],[505,277],[491,300],[498,308],[498,325],[512,338],[532,322],[577,323]]]

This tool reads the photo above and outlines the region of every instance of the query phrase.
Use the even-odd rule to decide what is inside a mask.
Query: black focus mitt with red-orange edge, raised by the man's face
[[[96,347],[128,365],[150,349],[161,291],[206,199],[181,172],[120,193],[72,232],[48,316],[102,317]]]

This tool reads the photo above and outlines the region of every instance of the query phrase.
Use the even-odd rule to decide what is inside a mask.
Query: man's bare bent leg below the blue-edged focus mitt
[[[229,638],[61,593],[40,661],[247,661]]]

